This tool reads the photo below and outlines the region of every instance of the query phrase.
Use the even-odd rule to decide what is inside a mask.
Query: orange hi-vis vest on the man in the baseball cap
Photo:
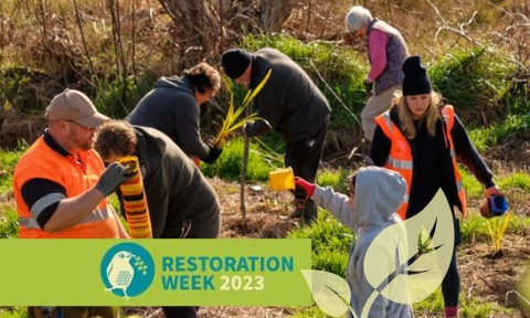
[[[36,223],[40,206],[47,206],[66,198],[77,197],[94,188],[105,170],[102,159],[94,150],[80,152],[81,162],[73,156],[63,156],[52,149],[44,138],[22,156],[14,169],[13,190],[19,213],[20,239],[119,239],[113,206],[103,200],[80,224],[50,233]],[[28,206],[22,198],[22,186],[31,179],[46,179],[64,187],[63,193],[51,193]],[[38,206],[35,206],[38,205]],[[39,206],[40,205],[40,206]]]

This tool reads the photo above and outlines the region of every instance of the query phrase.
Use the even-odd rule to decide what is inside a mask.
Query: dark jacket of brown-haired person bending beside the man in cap
[[[221,205],[210,182],[166,135],[134,127],[153,237],[180,239],[189,223],[187,237],[215,239]]]

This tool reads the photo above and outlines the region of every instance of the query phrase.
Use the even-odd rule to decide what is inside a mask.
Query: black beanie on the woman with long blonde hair
[[[431,80],[427,70],[422,65],[422,57],[409,56],[403,63],[403,95],[423,95],[432,91]]]

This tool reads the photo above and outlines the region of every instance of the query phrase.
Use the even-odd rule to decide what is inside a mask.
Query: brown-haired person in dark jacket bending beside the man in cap
[[[218,237],[221,208],[215,191],[165,134],[114,120],[100,128],[95,148],[107,163],[125,156],[138,157],[153,239]],[[119,192],[118,197],[121,198]],[[168,318],[195,318],[198,310],[197,307],[162,309]]]

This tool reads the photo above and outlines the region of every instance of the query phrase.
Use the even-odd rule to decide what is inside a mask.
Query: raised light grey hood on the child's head
[[[395,171],[361,168],[356,181],[356,223],[361,227],[380,226],[403,204],[406,181]]]

